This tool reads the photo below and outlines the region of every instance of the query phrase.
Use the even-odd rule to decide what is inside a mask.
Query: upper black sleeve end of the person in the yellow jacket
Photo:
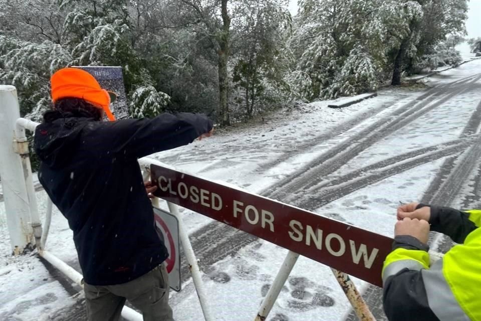
[[[416,209],[429,206],[419,204]],[[431,231],[449,236],[456,243],[463,243],[466,236],[476,229],[476,225],[469,220],[469,214],[449,207],[430,205]]]

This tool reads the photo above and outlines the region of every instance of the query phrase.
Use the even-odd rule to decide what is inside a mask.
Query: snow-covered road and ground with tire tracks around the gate
[[[432,146],[441,148],[446,142],[462,136],[463,128],[481,100],[481,80],[471,77],[480,74],[481,60],[473,61],[429,78],[427,84],[433,87],[429,91],[381,90],[378,97],[343,109],[327,108],[329,101],[316,102],[309,107],[267,117],[262,124],[237,128],[158,153],[156,157],[178,169],[234,184],[250,192],[271,195],[320,215],[392,236],[395,208],[399,202],[421,199],[440,172],[446,156],[419,162],[407,170],[402,170],[402,166],[416,157],[411,157],[410,152]],[[403,108],[406,112],[396,117]],[[408,121],[411,115],[416,117]],[[407,120],[403,122],[403,119]],[[375,128],[372,137],[364,132],[370,126]],[[327,152],[346,143],[349,148],[359,144],[359,148],[339,149],[331,157],[339,160],[339,164],[329,168],[328,162],[316,164]],[[387,169],[381,167],[380,162],[390,157],[404,157],[402,155],[406,158],[389,165],[396,169],[394,174],[374,178],[374,174],[382,174]],[[371,168],[367,168],[369,165]],[[319,180],[315,176],[318,170],[325,173]],[[349,173],[356,170],[360,171],[356,174],[357,181],[348,180]],[[313,175],[309,175],[310,171]],[[476,175],[469,177],[473,182],[463,187],[463,191],[477,186]],[[361,184],[363,179],[368,183]],[[334,180],[342,184],[334,187],[337,194],[332,201],[322,204],[319,195],[327,191],[323,184]],[[280,182],[295,189],[287,193],[282,188],[272,188]],[[346,188],[346,185],[358,183],[355,190]],[[37,197],[43,214],[45,192],[37,193]],[[212,224],[210,219],[191,211],[183,210],[182,213],[192,235]],[[54,316],[56,320],[62,319],[58,318],[58,310],[71,306],[77,298],[71,297],[52,279],[36,256],[10,256],[4,203],[0,203],[0,235],[0,319],[42,321]],[[216,237],[221,239],[222,235]],[[47,247],[61,259],[76,264],[72,232],[57,210]],[[255,241],[204,267],[207,293],[216,318],[254,319],[286,253],[285,249],[269,242]],[[367,286],[363,281],[355,282],[361,288]],[[171,293],[171,302],[176,319],[202,319],[190,279],[184,281],[181,292]],[[268,319],[340,320],[348,312],[349,303],[330,269],[300,258]]]

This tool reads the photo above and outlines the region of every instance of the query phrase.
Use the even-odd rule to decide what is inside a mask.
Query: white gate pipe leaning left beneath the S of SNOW
[[[282,262],[281,268],[276,275],[274,282],[269,288],[269,291],[266,294],[266,297],[262,301],[261,307],[259,308],[259,313],[256,316],[255,321],[263,321],[267,319],[269,312],[271,312],[274,303],[276,302],[279,294],[281,293],[282,287],[286,283],[289,275],[291,274],[294,265],[296,265],[297,259],[299,258],[299,254],[289,251]]]

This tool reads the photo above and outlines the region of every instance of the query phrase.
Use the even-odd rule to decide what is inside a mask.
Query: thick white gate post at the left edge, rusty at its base
[[[13,254],[32,249],[30,204],[21,157],[14,151],[15,124],[20,118],[17,89],[0,85],[0,178]]]

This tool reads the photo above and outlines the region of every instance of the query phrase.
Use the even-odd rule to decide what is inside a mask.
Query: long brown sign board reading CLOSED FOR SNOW
[[[391,238],[171,169],[150,169],[155,196],[382,286]]]

